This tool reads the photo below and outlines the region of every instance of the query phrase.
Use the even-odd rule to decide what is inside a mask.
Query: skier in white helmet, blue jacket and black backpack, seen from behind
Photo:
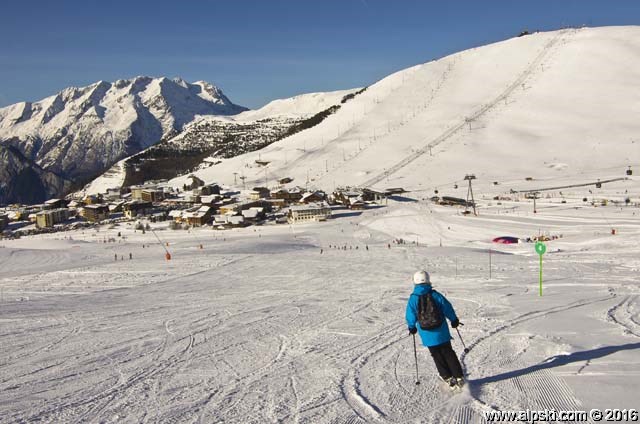
[[[451,321],[451,327],[456,328],[460,325],[456,312],[446,297],[433,290],[429,274],[426,271],[416,272],[413,275],[413,283],[415,286],[413,293],[409,296],[405,314],[409,334],[420,334],[422,344],[429,348],[440,378],[451,387],[462,387],[464,386],[462,366],[458,360],[458,355],[456,355],[451,347],[451,333],[449,333],[447,321],[442,317],[442,315],[444,315],[444,317],[448,318],[449,321]],[[422,319],[422,317],[419,317],[420,297],[427,294],[430,294],[433,299],[433,302],[431,302],[431,304],[435,306],[435,308],[431,308],[433,315],[439,315],[441,321],[441,324],[432,330],[423,329],[422,326],[419,325],[419,318]],[[423,300],[423,304],[427,305],[426,308],[423,307],[423,311],[428,312],[429,302]],[[438,316],[432,318],[437,324]]]

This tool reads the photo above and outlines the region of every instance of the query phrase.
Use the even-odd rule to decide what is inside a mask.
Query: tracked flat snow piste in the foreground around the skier
[[[293,227],[158,224],[171,261],[130,224],[4,241],[0,422],[476,423],[637,408],[639,209],[540,207],[465,217],[391,201]],[[563,235],[547,243],[542,297],[533,245],[489,242],[538,231]],[[458,395],[422,347],[415,385],[404,309],[420,267],[465,324]]]

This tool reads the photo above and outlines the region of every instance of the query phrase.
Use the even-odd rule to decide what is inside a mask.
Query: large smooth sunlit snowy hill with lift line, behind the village
[[[263,182],[259,156],[271,184],[293,177],[325,190],[433,190],[467,173],[505,190],[525,177],[619,176],[640,164],[639,78],[640,27],[536,33],[390,75],[320,125],[198,176]]]

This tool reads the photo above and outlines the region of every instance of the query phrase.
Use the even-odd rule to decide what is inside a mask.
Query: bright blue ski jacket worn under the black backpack
[[[418,334],[422,339],[424,346],[438,346],[442,343],[446,343],[451,340],[451,333],[449,333],[449,324],[446,319],[442,320],[442,325],[435,330],[423,330],[418,324],[418,298],[420,295],[431,292],[433,300],[436,301],[440,311],[449,321],[455,321],[457,319],[456,312],[453,310],[453,306],[447,300],[446,297],[433,290],[429,284],[416,284],[413,288],[413,293],[409,296],[407,302],[407,311],[405,318],[407,319],[407,325],[409,328],[418,328]]]

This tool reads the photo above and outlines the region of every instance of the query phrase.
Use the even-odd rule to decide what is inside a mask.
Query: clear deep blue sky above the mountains
[[[371,84],[521,30],[636,25],[637,0],[22,1],[0,8],[0,107],[137,75],[235,103]]]

